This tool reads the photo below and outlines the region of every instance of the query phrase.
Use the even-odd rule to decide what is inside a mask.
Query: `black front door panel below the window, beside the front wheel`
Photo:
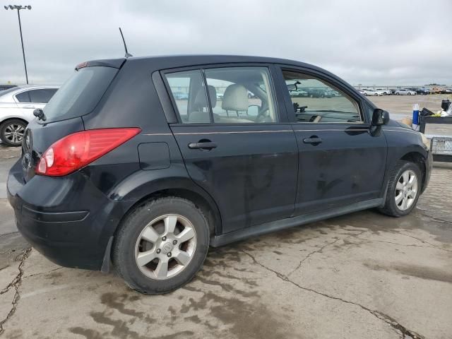
[[[293,127],[299,146],[296,215],[379,198],[386,167],[382,134],[372,136],[367,126]]]

